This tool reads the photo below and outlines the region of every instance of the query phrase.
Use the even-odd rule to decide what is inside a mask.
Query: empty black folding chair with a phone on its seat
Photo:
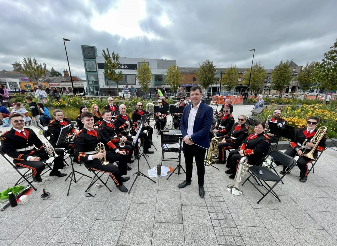
[[[245,180],[245,182],[243,182],[242,185],[244,185],[246,183],[246,181],[248,180],[263,196],[261,199],[259,199],[257,201],[257,203],[259,203],[263,198],[265,198],[265,196],[270,192],[273,196],[275,196],[278,201],[281,201],[280,198],[278,197],[278,195],[275,193],[275,191],[273,190],[274,187],[280,182],[282,181],[283,177],[291,170],[293,169],[293,167],[296,165],[296,160],[293,157],[290,157],[278,150],[273,150],[270,155],[272,158],[278,160],[279,162],[281,162],[283,165],[286,165],[287,171],[285,174],[283,174],[282,177],[280,177],[277,173],[274,173],[272,170],[270,170],[267,167],[263,167],[263,166],[251,166],[248,168],[248,172],[250,173],[249,177]],[[253,176],[254,179],[259,180],[262,184],[262,186],[264,188],[267,189],[266,193],[263,193],[260,189],[258,189],[250,180],[249,178]],[[263,184],[262,183],[265,184]],[[275,184],[271,187],[266,181],[269,182],[275,182]],[[268,187],[268,188],[267,188]]]

